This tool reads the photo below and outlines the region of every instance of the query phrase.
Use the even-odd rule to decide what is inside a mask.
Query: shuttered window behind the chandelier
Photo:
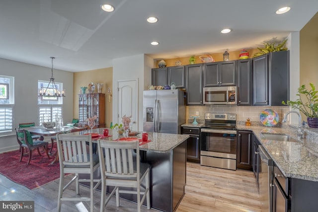
[[[46,88],[49,81],[38,80],[38,89]],[[63,89],[63,83],[55,82],[58,89]],[[63,97],[38,97],[39,126],[43,122],[63,120]],[[63,122],[61,123],[63,125]]]

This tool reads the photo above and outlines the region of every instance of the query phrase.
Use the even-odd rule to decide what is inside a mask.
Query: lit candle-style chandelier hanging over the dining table
[[[53,76],[53,60],[55,57],[50,57],[52,59],[52,76],[50,78],[50,82],[46,88],[41,87],[39,89],[38,96],[40,97],[65,97],[65,89],[59,90],[58,86],[54,82],[54,76]]]

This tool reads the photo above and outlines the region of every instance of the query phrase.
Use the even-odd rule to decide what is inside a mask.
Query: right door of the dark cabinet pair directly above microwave
[[[220,86],[236,85],[236,61],[220,62]]]

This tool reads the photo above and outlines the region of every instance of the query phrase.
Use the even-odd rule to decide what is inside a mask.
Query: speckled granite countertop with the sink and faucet
[[[285,125],[286,126],[286,125]],[[304,129],[305,138],[298,141],[262,139],[261,133],[286,134],[297,140],[297,127],[265,127],[237,125],[238,130],[250,130],[265,147],[286,177],[318,181],[318,134]]]

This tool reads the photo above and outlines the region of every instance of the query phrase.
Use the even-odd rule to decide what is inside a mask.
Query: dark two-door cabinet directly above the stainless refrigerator
[[[152,85],[170,85],[175,83],[176,88],[185,87],[185,69],[184,66],[156,68],[152,69]]]

